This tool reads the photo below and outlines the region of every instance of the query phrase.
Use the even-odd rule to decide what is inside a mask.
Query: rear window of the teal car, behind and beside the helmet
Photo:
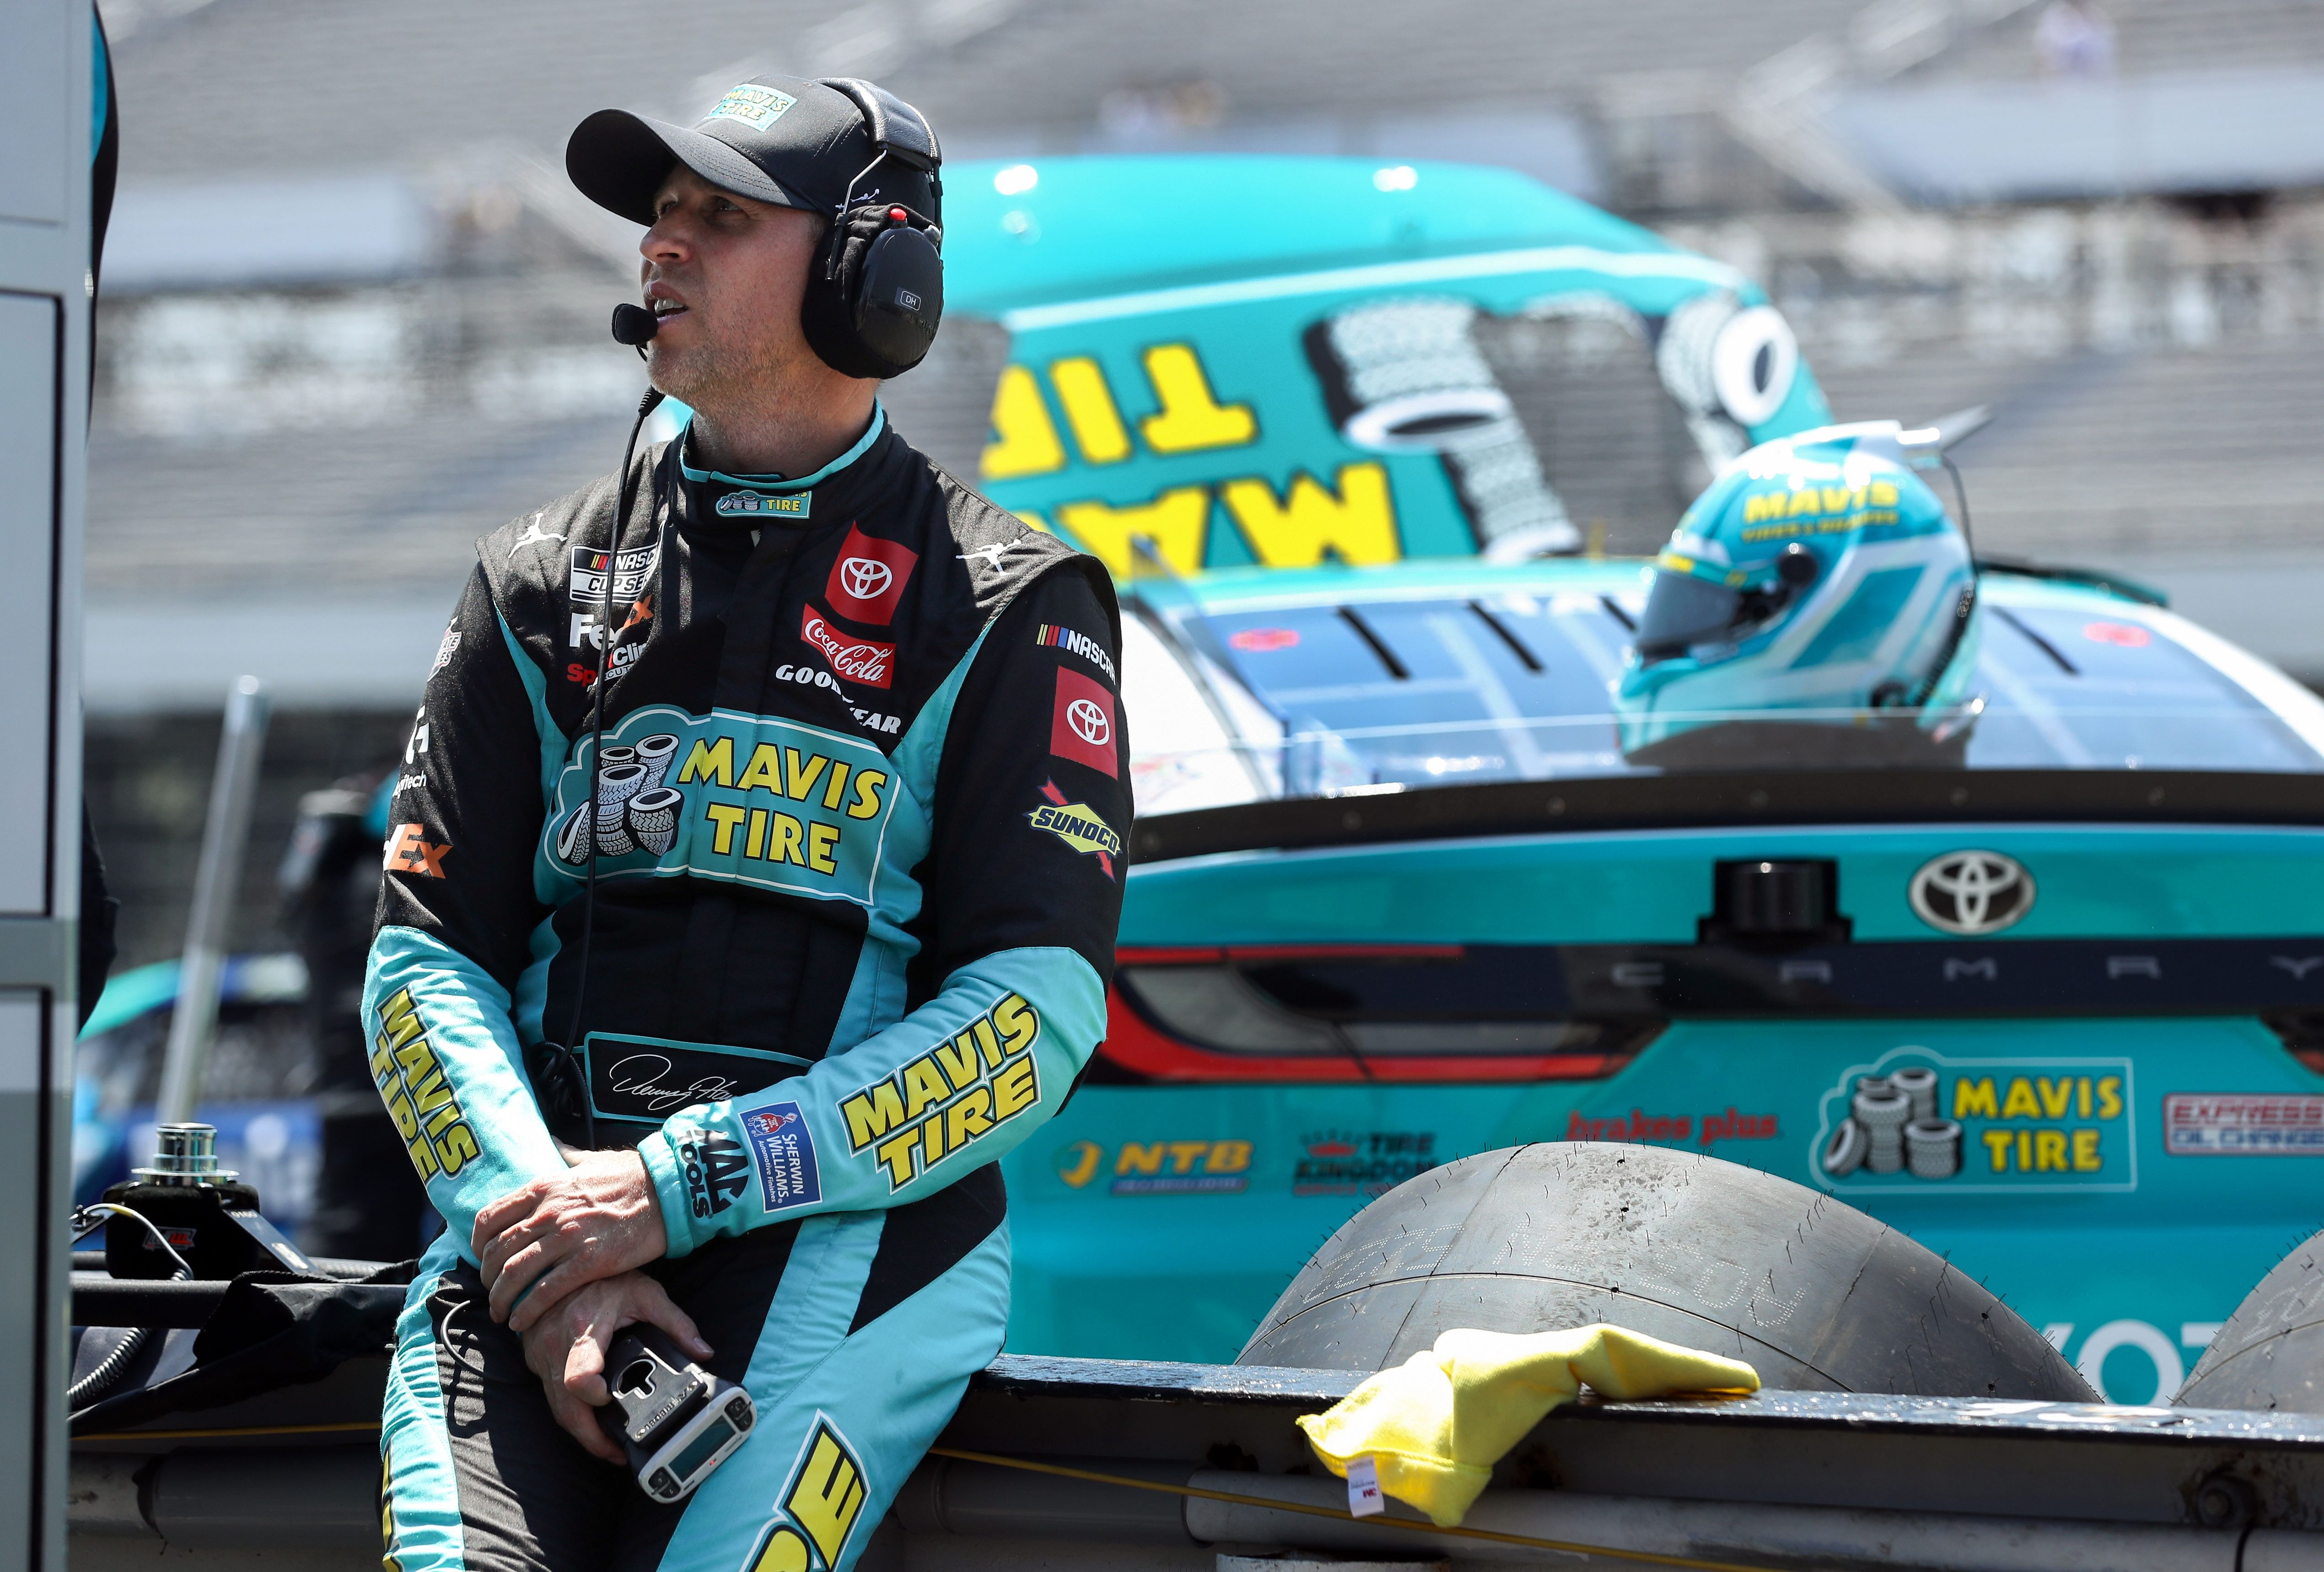
[[[1132,667],[1174,670],[1125,674],[1139,812],[1638,774],[1611,691],[1641,609],[1620,581],[1148,609]],[[2324,700],[2171,612],[1987,574],[1982,614],[1971,770],[2324,770]]]

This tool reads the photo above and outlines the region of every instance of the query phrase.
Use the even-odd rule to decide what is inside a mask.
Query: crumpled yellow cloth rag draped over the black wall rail
[[[1583,1381],[1606,1398],[1759,1391],[1759,1372],[1743,1360],[1620,1326],[1529,1335],[1455,1328],[1322,1414],[1301,1414],[1299,1428],[1341,1479],[1348,1463],[1371,1456],[1387,1495],[1455,1528],[1501,1453],[1571,1402]]]

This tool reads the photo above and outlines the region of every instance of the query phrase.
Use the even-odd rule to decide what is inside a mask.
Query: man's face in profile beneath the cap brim
[[[799,295],[823,228],[820,214],[720,191],[676,165],[637,246],[646,309],[660,323],[653,386],[702,407],[820,365],[799,328]]]

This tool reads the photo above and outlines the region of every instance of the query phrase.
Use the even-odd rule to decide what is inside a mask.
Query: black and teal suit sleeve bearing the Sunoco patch
[[[988,628],[944,721],[918,870],[913,972],[932,998],[797,1077],[648,1135],[639,1153],[672,1256],[813,1212],[923,1200],[1064,1102],[1106,1032],[1122,907],[1116,646],[1113,607],[1078,570],[1050,572]],[[916,744],[906,735],[897,751]]]

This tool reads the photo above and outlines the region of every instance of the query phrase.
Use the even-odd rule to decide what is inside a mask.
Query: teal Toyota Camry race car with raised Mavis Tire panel
[[[953,188],[953,309],[1011,335],[983,486],[1125,577],[1139,802],[1111,1035],[1006,1158],[1013,1351],[1232,1360],[1399,1181],[1648,1142],[2147,1402],[2324,1221],[2312,693],[1980,563],[1943,758],[1648,763],[1615,693],[1687,563],[1592,546],[1831,421],[1748,279],[1490,170]]]

